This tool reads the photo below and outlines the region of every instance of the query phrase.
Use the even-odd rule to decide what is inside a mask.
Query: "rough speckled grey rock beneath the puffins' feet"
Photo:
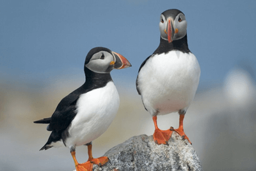
[[[200,160],[188,140],[173,132],[168,145],[157,145],[152,136],[129,138],[104,154],[104,166],[93,165],[94,171],[128,170],[202,170]]]

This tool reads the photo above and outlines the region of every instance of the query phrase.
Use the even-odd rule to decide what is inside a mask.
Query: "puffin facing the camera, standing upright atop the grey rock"
[[[195,97],[200,78],[200,66],[188,48],[187,21],[177,9],[166,10],[160,15],[160,43],[154,53],[140,66],[136,89],[145,109],[152,115],[156,144],[167,144],[176,131],[183,139],[183,120]],[[157,116],[179,113],[179,128],[160,130]]]

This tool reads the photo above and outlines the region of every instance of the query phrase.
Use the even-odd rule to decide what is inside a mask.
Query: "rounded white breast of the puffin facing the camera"
[[[150,57],[138,75],[143,104],[150,114],[187,110],[200,78],[200,66],[192,54],[177,50]]]

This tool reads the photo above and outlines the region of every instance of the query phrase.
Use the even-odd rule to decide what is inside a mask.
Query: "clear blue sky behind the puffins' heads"
[[[86,54],[102,46],[129,59],[131,68],[112,75],[135,90],[140,64],[159,45],[160,14],[171,8],[186,15],[201,85],[223,82],[237,64],[255,73],[256,1],[2,0],[0,80],[83,83]]]

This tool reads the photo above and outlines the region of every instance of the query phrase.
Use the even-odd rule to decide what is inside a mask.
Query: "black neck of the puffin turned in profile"
[[[95,73],[86,67],[84,67],[84,73],[86,77],[86,81],[83,85],[84,88],[100,88],[112,81],[110,73]]]

